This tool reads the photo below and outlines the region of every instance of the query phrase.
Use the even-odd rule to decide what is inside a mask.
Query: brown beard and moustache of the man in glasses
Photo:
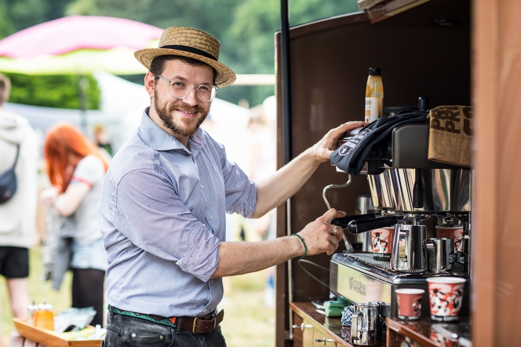
[[[163,125],[169,128],[174,134],[182,137],[189,137],[195,134],[210,112],[209,109],[206,111],[201,105],[188,106],[182,101],[181,104],[176,103],[167,107],[166,103],[162,104],[161,100],[157,96],[154,98],[154,108],[159,119],[163,122]],[[197,122],[195,122],[195,119],[182,118],[182,124],[179,124],[179,122],[174,121],[172,115],[176,109],[187,112],[199,112],[201,116]]]

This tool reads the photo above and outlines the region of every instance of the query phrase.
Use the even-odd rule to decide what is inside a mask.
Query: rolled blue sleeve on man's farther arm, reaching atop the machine
[[[226,212],[251,218],[257,207],[257,185],[237,164],[228,161],[224,147],[220,156],[225,182]]]

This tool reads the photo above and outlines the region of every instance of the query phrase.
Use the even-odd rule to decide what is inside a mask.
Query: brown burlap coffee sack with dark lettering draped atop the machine
[[[458,166],[472,161],[472,107],[440,106],[430,110],[429,160]]]

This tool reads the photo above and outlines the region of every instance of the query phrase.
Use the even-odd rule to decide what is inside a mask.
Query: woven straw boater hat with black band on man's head
[[[145,48],[134,52],[134,57],[147,69],[150,69],[155,57],[178,55],[194,58],[207,63],[217,71],[215,84],[224,87],[235,82],[235,74],[226,65],[217,61],[221,44],[217,38],[204,31],[171,27],[165,29],[159,40],[159,48]]]

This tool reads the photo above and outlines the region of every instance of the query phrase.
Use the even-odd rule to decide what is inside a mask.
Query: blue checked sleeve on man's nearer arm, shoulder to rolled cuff
[[[219,240],[181,202],[164,175],[145,169],[126,174],[116,201],[118,213],[128,222],[125,236],[134,245],[175,261],[202,281],[212,277],[219,262]]]

